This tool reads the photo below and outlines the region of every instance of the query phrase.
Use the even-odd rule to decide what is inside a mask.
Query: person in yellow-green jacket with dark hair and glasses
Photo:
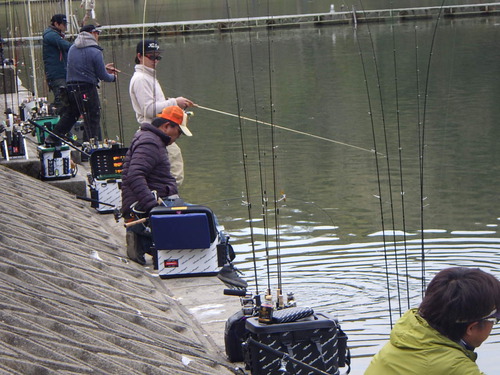
[[[452,267],[429,283],[418,309],[394,325],[365,375],[480,375],[474,349],[500,318],[500,281],[478,268]]]

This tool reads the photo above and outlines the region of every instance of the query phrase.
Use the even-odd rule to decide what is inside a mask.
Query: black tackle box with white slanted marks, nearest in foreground
[[[327,374],[346,365],[347,336],[335,319],[316,314],[291,323],[259,323],[248,318],[245,363],[252,375],[314,374],[286,355]]]

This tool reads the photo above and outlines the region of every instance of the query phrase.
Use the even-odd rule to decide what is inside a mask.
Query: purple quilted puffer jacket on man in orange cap
[[[170,173],[166,146],[170,137],[148,123],[141,124],[125,156],[122,172],[122,214],[130,215],[130,205],[138,202],[141,211],[149,212],[158,197],[177,194],[175,178]]]

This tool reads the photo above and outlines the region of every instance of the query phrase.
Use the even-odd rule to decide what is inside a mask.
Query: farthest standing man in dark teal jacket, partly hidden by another
[[[66,87],[66,64],[71,43],[64,39],[67,27],[64,14],[54,14],[50,26],[43,32],[43,64],[49,90],[54,94],[51,107],[61,109],[61,88]]]

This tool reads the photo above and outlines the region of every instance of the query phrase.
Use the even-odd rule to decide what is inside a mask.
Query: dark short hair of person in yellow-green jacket
[[[467,326],[500,309],[500,281],[479,268],[452,267],[427,286],[419,314],[438,332],[460,340]]]

